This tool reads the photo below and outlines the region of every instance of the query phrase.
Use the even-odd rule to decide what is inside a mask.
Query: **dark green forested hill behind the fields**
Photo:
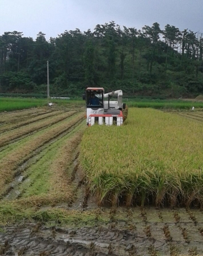
[[[36,40],[23,32],[0,36],[0,93],[81,96],[87,86],[125,96],[193,97],[203,92],[203,34],[155,22],[142,29],[114,21]]]

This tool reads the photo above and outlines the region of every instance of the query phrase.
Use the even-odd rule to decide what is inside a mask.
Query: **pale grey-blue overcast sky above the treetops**
[[[203,33],[203,0],[0,0],[0,35],[7,31],[57,37],[65,30],[87,29],[115,21],[141,29],[158,22]]]

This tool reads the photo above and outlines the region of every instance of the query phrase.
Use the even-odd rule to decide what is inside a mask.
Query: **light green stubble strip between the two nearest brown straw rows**
[[[19,197],[40,195],[44,191],[46,192],[49,187],[47,181],[51,175],[49,169],[57,156],[58,149],[67,143],[70,137],[85,127],[84,121],[80,124],[76,123],[68,131],[32,152],[32,156],[15,169],[16,175],[9,184],[4,198],[6,200],[15,200]]]

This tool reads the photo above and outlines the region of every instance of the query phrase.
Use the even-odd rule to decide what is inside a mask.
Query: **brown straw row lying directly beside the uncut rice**
[[[74,159],[75,149],[78,147],[85,126],[82,126],[80,130],[73,135],[73,137],[68,138],[64,141],[64,145],[60,147],[57,154],[52,161],[49,170],[44,170],[46,172],[46,185],[43,187],[43,191],[39,195],[30,195],[27,197],[22,197],[18,200],[18,203],[33,206],[33,205],[44,205],[44,204],[55,204],[55,203],[70,203],[74,200],[75,189],[77,188],[77,183],[81,182],[81,179],[75,184],[72,184],[72,176],[70,171],[70,163]],[[40,184],[43,183],[44,177],[38,177],[36,182]],[[38,187],[43,185],[38,184]],[[39,188],[40,189],[40,188]],[[38,190],[38,189],[36,189]],[[36,191],[37,192],[37,191]],[[75,191],[76,192],[76,191]]]

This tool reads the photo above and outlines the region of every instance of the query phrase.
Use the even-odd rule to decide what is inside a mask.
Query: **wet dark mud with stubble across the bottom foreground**
[[[194,229],[193,222],[180,224],[190,233],[190,243],[186,243],[177,224],[174,224],[172,211],[163,211],[169,216],[167,224],[155,221],[157,210],[147,209],[148,224],[151,227],[151,236],[145,234],[143,217],[139,209],[133,209],[138,218],[128,221],[109,221],[109,224],[98,224],[97,227],[46,227],[41,223],[21,223],[15,227],[2,227],[5,232],[0,233],[1,255],[77,255],[77,256],[130,256],[130,255],[191,255],[191,252],[203,255],[203,236]],[[108,210],[107,210],[108,211]],[[119,208],[124,212],[126,209]],[[156,216],[153,216],[156,213]],[[150,218],[152,216],[152,218]],[[184,215],[187,218],[187,214]],[[170,222],[172,219],[173,222]],[[134,222],[133,228],[129,224]],[[202,225],[202,223],[201,223]],[[167,240],[164,227],[167,226],[172,239]],[[179,230],[179,232],[178,232]],[[192,232],[193,231],[193,232]],[[23,252],[23,254],[21,254]],[[154,253],[154,254],[153,254]],[[189,254],[190,253],[190,254]],[[177,255],[178,255],[177,254]],[[195,255],[195,254],[194,254]]]

